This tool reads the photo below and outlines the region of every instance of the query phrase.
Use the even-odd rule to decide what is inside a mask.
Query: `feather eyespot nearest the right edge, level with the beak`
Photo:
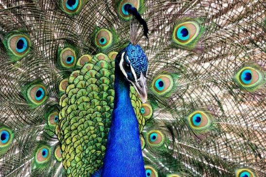
[[[259,68],[246,66],[236,73],[234,80],[244,90],[255,91],[264,82],[264,77]]]

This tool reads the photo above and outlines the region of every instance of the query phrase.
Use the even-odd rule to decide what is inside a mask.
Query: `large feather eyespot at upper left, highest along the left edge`
[[[30,51],[31,42],[27,35],[21,32],[12,32],[7,36],[7,40],[3,41],[7,54],[11,61],[17,62]]]

